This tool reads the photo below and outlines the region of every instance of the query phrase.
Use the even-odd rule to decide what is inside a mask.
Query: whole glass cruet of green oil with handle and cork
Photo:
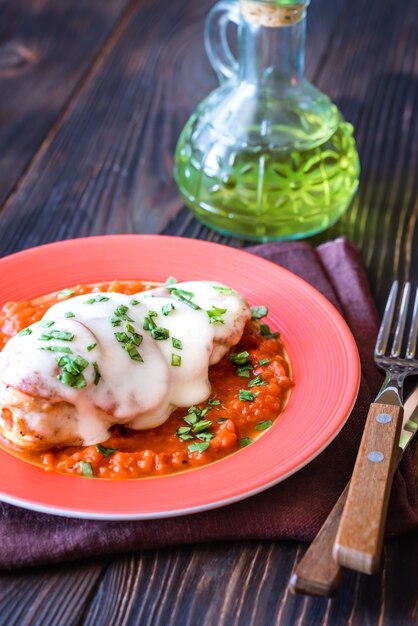
[[[310,0],[221,0],[205,43],[220,87],[192,114],[175,154],[184,202],[241,239],[298,239],[336,222],[358,186],[351,124],[303,76]],[[228,24],[238,27],[238,58]]]

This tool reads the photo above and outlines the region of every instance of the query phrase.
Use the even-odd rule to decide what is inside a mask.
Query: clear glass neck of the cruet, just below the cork
[[[244,17],[240,26],[241,80],[262,88],[296,86],[303,78],[306,14],[286,26],[263,26]]]

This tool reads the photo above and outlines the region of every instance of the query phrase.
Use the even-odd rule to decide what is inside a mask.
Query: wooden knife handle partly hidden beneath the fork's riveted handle
[[[336,591],[340,583],[342,568],[334,560],[332,549],[347,493],[348,484],[321,530],[295,567],[290,578],[290,588],[294,593],[330,596]]]

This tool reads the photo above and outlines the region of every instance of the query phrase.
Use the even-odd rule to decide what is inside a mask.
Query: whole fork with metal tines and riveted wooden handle
[[[374,359],[386,373],[383,385],[370,406],[347,500],[334,543],[333,555],[339,565],[372,574],[380,563],[383,534],[393,469],[403,417],[403,384],[405,378],[418,374],[415,350],[418,335],[418,289],[415,296],[406,352],[401,355],[405,333],[410,283],[402,290],[399,315],[391,335],[398,281],[392,285],[377,336]]]

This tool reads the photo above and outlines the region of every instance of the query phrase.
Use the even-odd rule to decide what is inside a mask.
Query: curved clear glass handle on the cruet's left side
[[[230,22],[238,26],[239,20],[239,3],[236,0],[220,0],[206,17],[206,52],[220,83],[238,74],[238,61],[229,47],[227,28]]]

